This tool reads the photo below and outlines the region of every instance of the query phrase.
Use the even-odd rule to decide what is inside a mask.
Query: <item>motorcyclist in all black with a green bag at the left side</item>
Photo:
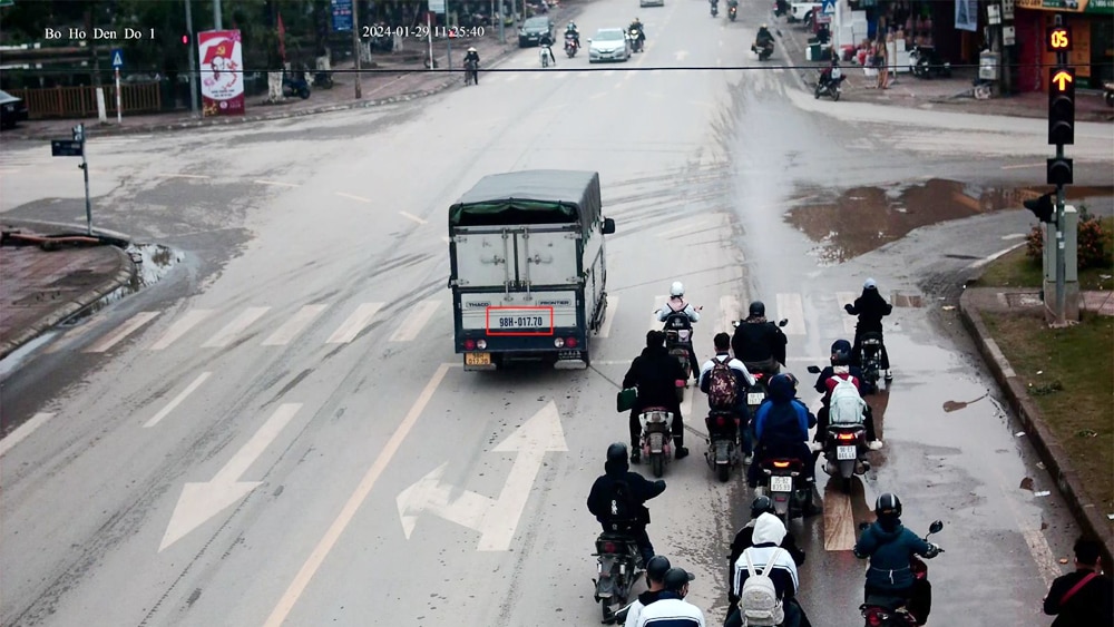
[[[677,360],[665,350],[665,333],[651,331],[646,334],[646,347],[631,363],[631,370],[623,378],[623,388],[637,388],[638,396],[631,410],[631,461],[638,463],[642,459],[641,442],[642,423],[638,417],[645,408],[666,408],[673,412],[673,443],[676,458],[688,454],[684,447],[685,425],[681,415],[681,401],[677,400],[677,381],[687,379],[687,373]]]

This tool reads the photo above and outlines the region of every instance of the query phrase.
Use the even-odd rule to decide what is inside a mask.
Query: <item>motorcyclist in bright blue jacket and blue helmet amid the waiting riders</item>
[[[772,458],[800,460],[804,466],[805,480],[815,481],[815,464],[809,449],[809,429],[815,427],[817,418],[809,408],[797,399],[797,378],[778,374],[770,380],[770,398],[759,405],[754,414],[754,462],[746,472],[751,488],[759,484],[762,462]]]

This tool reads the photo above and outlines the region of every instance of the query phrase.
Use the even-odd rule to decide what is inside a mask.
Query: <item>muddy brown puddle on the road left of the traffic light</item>
[[[812,188],[797,196],[786,219],[819,244],[813,253],[821,265],[831,265],[900,239],[921,226],[1018,208],[1023,200],[1049,189],[940,178],[888,187],[853,187],[836,198],[830,197],[828,189]],[[1097,196],[1114,196],[1114,186],[1067,188],[1069,200]]]

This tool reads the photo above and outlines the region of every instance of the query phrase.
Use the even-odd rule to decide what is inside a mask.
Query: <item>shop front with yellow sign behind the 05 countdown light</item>
[[[1045,37],[1056,13],[1072,29],[1068,66],[1076,85],[1101,89],[1114,81],[1114,0],[1016,0],[1018,75],[1020,91],[1047,91],[1048,68],[1056,65]]]

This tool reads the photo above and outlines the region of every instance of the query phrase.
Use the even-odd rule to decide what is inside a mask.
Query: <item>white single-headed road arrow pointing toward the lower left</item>
[[[263,483],[238,479],[247,472],[263,451],[267,450],[271,442],[278,437],[300,409],[302,403],[278,405],[263,427],[236,451],[236,454],[232,455],[212,481],[186,483],[182,487],[182,496],[178,497],[178,504],[174,507],[170,522],[166,526],[166,533],[163,535],[163,542],[158,547],[159,552]]]

